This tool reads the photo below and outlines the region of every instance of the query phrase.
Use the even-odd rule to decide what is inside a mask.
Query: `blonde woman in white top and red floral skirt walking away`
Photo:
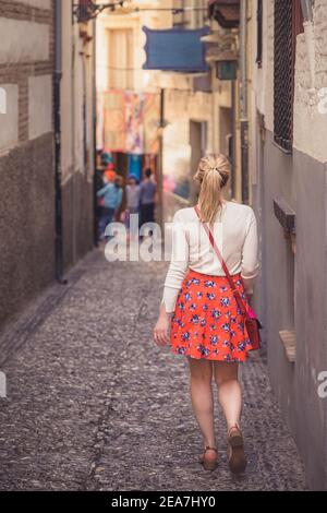
[[[158,345],[170,344],[172,353],[189,360],[192,406],[204,442],[199,463],[208,470],[216,468],[218,454],[214,377],[227,422],[229,467],[241,473],[246,457],[238,371],[252,345],[244,315],[203,226],[210,228],[237,289],[250,305],[253,278],[261,267],[257,225],[251,206],[223,199],[229,176],[225,155],[203,157],[195,175],[201,184],[198,204],[174,215],[171,263],[154,338]]]

